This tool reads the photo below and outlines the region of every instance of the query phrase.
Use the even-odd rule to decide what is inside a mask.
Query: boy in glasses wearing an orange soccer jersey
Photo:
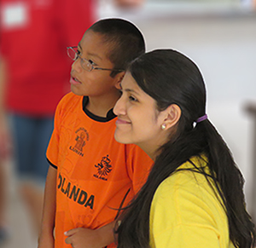
[[[116,246],[118,209],[137,193],[152,164],[139,147],[113,138],[119,84],[128,63],[144,51],[141,32],[120,19],[99,20],[78,47],[68,48],[72,92],[55,112],[38,247]]]

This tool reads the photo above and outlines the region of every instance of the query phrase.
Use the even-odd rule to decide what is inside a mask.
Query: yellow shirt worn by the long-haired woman
[[[198,159],[192,161],[198,164]],[[180,168],[194,167],[186,162]],[[182,170],[160,184],[150,210],[150,245],[157,248],[234,247],[224,208],[205,176]]]

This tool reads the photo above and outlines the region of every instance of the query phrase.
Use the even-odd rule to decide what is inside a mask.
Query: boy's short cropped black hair
[[[99,32],[104,42],[109,44],[108,59],[113,69],[126,70],[131,61],[145,53],[145,42],[142,32],[128,20],[118,18],[102,19],[88,29]],[[114,77],[118,72],[111,72]]]

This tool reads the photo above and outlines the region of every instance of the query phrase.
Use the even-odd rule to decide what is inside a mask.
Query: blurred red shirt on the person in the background
[[[9,111],[53,115],[70,90],[77,45],[94,19],[92,0],[1,0],[0,50],[7,61]]]

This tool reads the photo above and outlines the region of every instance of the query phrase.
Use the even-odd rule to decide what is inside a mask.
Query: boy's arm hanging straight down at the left
[[[38,248],[54,248],[56,175],[57,170],[49,166],[44,189],[44,209]]]

